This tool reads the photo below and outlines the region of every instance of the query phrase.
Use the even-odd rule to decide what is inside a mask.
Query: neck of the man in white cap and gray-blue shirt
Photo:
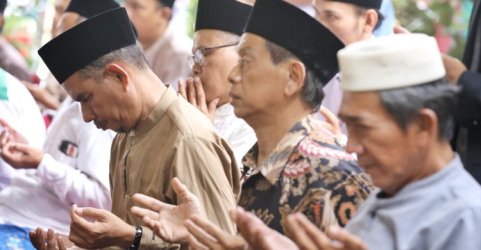
[[[395,196],[403,187],[416,181],[427,178],[443,168],[445,168],[453,159],[454,153],[449,142],[439,142],[436,145],[430,147],[429,151],[420,157],[419,163],[414,163],[421,168],[416,175],[408,179],[401,187],[392,191],[384,191],[388,197]]]

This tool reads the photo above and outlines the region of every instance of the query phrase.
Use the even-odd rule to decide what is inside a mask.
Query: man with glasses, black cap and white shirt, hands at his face
[[[179,80],[179,92],[202,111],[234,151],[238,166],[255,144],[254,130],[234,114],[227,80],[239,60],[239,43],[252,7],[235,0],[200,0],[194,55],[188,56],[194,78]]]

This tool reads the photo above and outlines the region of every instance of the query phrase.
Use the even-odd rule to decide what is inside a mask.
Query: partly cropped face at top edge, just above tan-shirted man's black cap
[[[157,0],[125,0],[125,8],[141,43],[152,40],[155,34],[152,31],[165,22]]]

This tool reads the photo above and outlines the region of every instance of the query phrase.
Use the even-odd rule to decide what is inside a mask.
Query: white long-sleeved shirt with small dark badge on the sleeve
[[[17,175],[0,192],[0,223],[68,234],[72,204],[110,210],[113,138],[113,132],[85,123],[80,105],[67,98],[49,127],[37,170]]]

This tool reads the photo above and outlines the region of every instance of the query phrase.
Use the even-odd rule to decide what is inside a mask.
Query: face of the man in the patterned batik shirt
[[[237,49],[239,62],[229,73],[235,115],[248,120],[282,108],[289,81],[287,63],[274,64],[266,40],[251,33],[242,35]]]

